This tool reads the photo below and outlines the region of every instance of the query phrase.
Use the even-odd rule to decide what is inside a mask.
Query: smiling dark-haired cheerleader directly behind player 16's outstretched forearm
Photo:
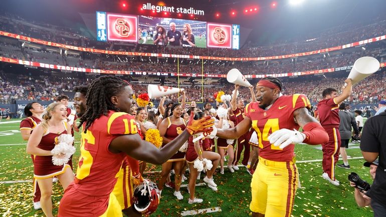
[[[168,109],[166,108],[164,119],[159,124],[158,130],[159,134],[162,136],[162,147],[165,146],[168,142],[173,140],[182,131],[186,128],[186,122],[181,118],[182,115],[182,106],[179,103],[175,103],[170,108],[170,116],[168,116]],[[169,174],[171,167],[174,167],[174,196],[177,199],[183,199],[181,192],[179,191],[181,178],[182,178],[182,168],[185,161],[185,153],[177,151],[166,163],[162,164],[161,177],[159,179],[158,188],[161,191],[163,185],[166,181],[167,175]]]

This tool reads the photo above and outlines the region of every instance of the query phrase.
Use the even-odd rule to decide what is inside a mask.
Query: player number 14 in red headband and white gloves
[[[259,141],[259,163],[252,177],[252,216],[291,216],[299,183],[294,146],[328,141],[319,122],[311,117],[305,95],[280,96],[278,78],[266,77],[256,85],[257,102],[245,108],[245,118],[235,128],[218,129],[217,136],[236,139],[249,128]],[[299,126],[303,132],[299,132]]]

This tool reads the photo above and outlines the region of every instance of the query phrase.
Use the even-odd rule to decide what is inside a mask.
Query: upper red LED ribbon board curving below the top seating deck
[[[64,48],[68,50],[75,50],[75,51],[85,51],[85,52],[93,52],[93,53],[100,53],[100,54],[112,54],[112,55],[130,55],[130,56],[148,56],[148,57],[169,57],[169,58],[189,58],[189,59],[204,59],[204,60],[227,60],[227,61],[260,61],[260,60],[277,60],[277,59],[286,59],[286,58],[293,58],[293,57],[303,57],[308,55],[314,55],[314,54],[322,54],[326,52],[331,51],[337,51],[349,47],[353,47],[355,45],[364,45],[367,43],[373,43],[378,42],[381,40],[386,39],[386,35],[378,36],[372,39],[366,39],[363,41],[343,45],[343,46],[336,46],[332,48],[326,48],[326,49],[320,49],[316,51],[309,51],[309,52],[303,52],[303,53],[297,53],[297,54],[287,54],[287,55],[281,55],[281,56],[272,56],[272,57],[208,57],[208,56],[194,56],[194,55],[176,55],[176,54],[153,54],[153,53],[138,53],[138,52],[124,52],[124,51],[107,51],[107,50],[100,50],[100,49],[93,49],[93,48],[83,48],[83,47],[77,47],[72,45],[65,45],[65,44],[59,44],[55,42],[48,42],[40,39],[35,39],[27,36],[21,36],[14,33],[8,33],[4,31],[0,31],[1,36],[6,36],[14,39],[19,39],[23,41],[33,42],[41,45],[47,45],[52,47],[58,47],[58,48]]]

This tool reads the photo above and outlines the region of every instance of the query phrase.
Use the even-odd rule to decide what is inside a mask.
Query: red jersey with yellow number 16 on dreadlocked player
[[[126,156],[123,152],[111,153],[110,142],[120,135],[135,133],[134,116],[114,111],[94,120],[86,133],[82,131],[81,156],[75,178],[77,191],[89,196],[108,196]]]

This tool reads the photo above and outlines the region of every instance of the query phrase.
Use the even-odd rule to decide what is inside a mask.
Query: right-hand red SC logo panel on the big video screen
[[[207,24],[208,48],[232,48],[232,25]]]

